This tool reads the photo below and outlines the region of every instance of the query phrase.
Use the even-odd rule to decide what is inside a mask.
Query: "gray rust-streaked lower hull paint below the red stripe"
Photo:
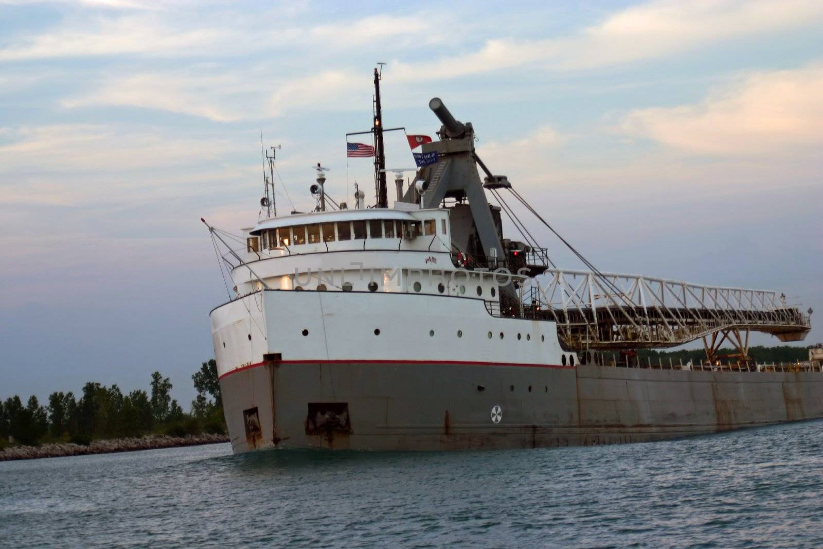
[[[597,365],[266,363],[221,379],[235,453],[272,446],[441,450],[663,440],[820,418],[821,388],[820,372]],[[346,427],[308,432],[309,403],[346,403]],[[495,406],[502,412],[496,424]]]

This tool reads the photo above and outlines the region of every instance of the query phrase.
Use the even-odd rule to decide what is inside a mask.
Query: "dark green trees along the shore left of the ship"
[[[158,371],[151,374],[148,391],[124,394],[117,384],[106,387],[90,381],[83,385],[80,398],[60,391],[51,393],[45,405],[34,395],[24,405],[14,395],[0,400],[0,444],[9,436],[20,444],[90,444],[95,439],[148,434],[225,433],[216,362],[203,362],[192,380],[198,394],[188,413],[171,398],[171,381]]]

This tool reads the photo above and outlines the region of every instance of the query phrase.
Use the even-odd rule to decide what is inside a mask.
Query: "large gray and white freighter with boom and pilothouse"
[[[398,171],[389,207],[379,80],[374,146],[348,147],[374,156],[374,207],[359,189],[334,202],[318,165],[313,212],[272,216],[272,173],[241,249],[209,226],[235,291],[211,313],[235,453],[616,444],[823,416],[819,361],[758,365],[747,348],[751,331],[802,340],[811,309],[601,272],[571,246],[588,270],[556,268],[506,199],[554,230],[437,98],[439,139],[410,136],[419,168]],[[699,365],[636,356],[700,338]]]

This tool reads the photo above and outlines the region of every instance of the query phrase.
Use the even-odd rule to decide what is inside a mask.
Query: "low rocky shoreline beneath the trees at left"
[[[40,446],[11,446],[0,449],[0,461],[13,459],[63,458],[87,454],[113,454],[158,448],[177,448],[198,444],[229,442],[228,435],[167,436],[147,435],[133,439],[93,440],[88,446],[72,443],[42,444]]]

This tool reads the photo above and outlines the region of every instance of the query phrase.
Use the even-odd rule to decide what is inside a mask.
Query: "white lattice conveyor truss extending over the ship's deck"
[[[570,350],[677,347],[701,338],[709,361],[726,341],[749,361],[751,331],[792,342],[811,328],[810,316],[776,291],[559,268],[544,275],[545,285],[523,288],[517,315],[554,320]]]

